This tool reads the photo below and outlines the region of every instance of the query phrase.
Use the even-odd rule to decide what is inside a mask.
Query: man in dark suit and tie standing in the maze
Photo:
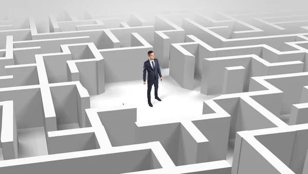
[[[159,68],[159,63],[158,63],[158,59],[154,58],[154,52],[153,51],[149,51],[148,52],[148,57],[149,59],[147,61],[145,61],[143,63],[143,84],[145,84],[145,77],[146,77],[146,72],[148,72],[148,90],[147,90],[147,97],[148,97],[148,104],[150,107],[153,107],[152,103],[151,103],[151,89],[152,89],[152,85],[154,84],[154,94],[155,94],[155,99],[157,99],[158,101],[162,101],[159,97],[158,97],[158,75],[160,76],[160,80],[162,81],[162,73],[160,71]]]

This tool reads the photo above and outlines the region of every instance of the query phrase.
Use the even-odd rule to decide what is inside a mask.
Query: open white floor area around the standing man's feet
[[[169,69],[163,69],[163,80],[159,81],[158,94],[162,101],[154,98],[154,85],[151,90],[151,102],[147,103],[147,84],[143,80],[114,82],[105,85],[106,92],[90,96],[92,107],[106,107],[112,105],[133,104],[137,107],[137,121],[151,121],[191,117],[202,113],[203,101],[218,95],[204,95],[200,93],[201,79],[194,79],[195,89],[183,89],[172,77]]]

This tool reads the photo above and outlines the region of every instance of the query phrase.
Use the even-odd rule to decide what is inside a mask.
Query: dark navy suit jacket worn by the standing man
[[[155,77],[158,79],[158,75],[162,77],[162,73],[160,71],[158,59],[154,58],[154,70],[150,64],[150,60],[148,59],[143,63],[143,81],[145,81],[146,71],[148,72],[148,81],[154,81]]]

